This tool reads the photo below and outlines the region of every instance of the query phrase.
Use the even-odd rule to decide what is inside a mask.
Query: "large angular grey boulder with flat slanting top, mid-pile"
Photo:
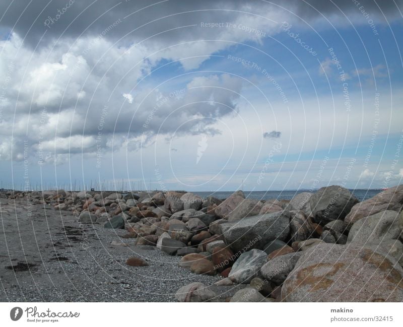
[[[221,224],[226,244],[234,252],[245,252],[252,248],[263,249],[268,242],[286,240],[290,234],[290,212],[243,218],[240,221]]]

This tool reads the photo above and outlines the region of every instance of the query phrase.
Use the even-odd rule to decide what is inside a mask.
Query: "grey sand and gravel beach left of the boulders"
[[[124,230],[81,224],[66,211],[1,199],[0,301],[176,302],[182,286],[222,279],[178,267],[179,256],[152,246],[112,246]],[[129,267],[130,256],[149,266]],[[244,286],[215,287],[224,301]]]

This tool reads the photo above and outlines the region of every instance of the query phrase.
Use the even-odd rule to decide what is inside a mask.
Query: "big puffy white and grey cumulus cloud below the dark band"
[[[113,150],[111,139],[135,151],[157,134],[214,135],[220,131],[212,126],[238,110],[242,82],[227,74],[194,74],[179,89],[140,84],[127,92],[152,68],[141,45],[127,51],[87,37],[34,51],[13,34],[0,46],[0,83],[7,79],[0,160],[23,160],[24,140],[61,162],[64,153],[95,153],[98,133],[105,151]],[[139,141],[142,134],[147,142]]]

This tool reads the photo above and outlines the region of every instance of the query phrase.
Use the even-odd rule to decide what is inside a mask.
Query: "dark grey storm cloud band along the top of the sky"
[[[194,28],[183,26],[198,24],[201,21],[222,22],[231,21],[241,15],[237,11],[250,12],[272,18],[271,13],[290,14],[282,9],[291,11],[291,19],[321,18],[321,15],[338,16],[343,19],[347,16],[362,18],[360,7],[371,15],[374,20],[398,18],[403,0],[374,1],[360,0],[356,5],[352,0],[324,1],[324,0],[291,0],[291,1],[241,1],[241,0],[205,0],[203,2],[187,0],[169,0],[150,2],[146,0],[60,0],[60,1],[2,1],[0,13],[4,13],[0,26],[13,29],[26,43],[36,45],[42,38],[44,42],[59,37],[77,38],[80,35],[97,35],[113,24],[118,26],[108,31],[108,38],[114,40],[128,36],[121,43],[135,42],[154,36],[154,40],[172,42],[180,40],[195,40],[214,36],[213,31],[198,33]],[[397,6],[397,7],[396,7]],[[127,15],[131,14],[127,17]],[[125,17],[127,17],[125,19]],[[119,21],[120,20],[120,21]],[[46,23],[46,25],[45,25]],[[135,32],[133,30],[137,29]],[[174,29],[174,30],[172,30]],[[170,31],[169,31],[170,30]]]

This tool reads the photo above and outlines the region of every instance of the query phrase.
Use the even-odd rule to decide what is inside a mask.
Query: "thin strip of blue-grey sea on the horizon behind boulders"
[[[277,200],[291,200],[295,195],[306,192],[306,190],[284,190],[284,191],[244,191],[245,197],[248,199],[256,200],[267,200],[267,199],[277,199]],[[358,200],[364,201],[369,198],[374,197],[374,195],[381,192],[380,189],[350,189]],[[233,192],[192,192],[199,195],[201,198],[207,198],[212,195],[217,199],[226,199]]]

